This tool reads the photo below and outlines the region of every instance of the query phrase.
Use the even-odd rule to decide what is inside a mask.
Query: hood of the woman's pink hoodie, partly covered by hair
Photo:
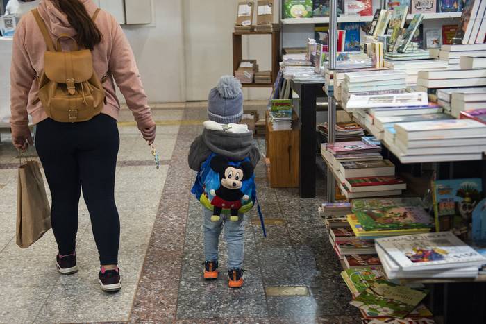
[[[86,7],[87,12],[90,15],[94,14],[94,11],[97,9],[97,5],[94,4],[92,0],[80,0]],[[66,34],[71,37],[76,35],[76,31],[72,28],[71,24],[67,20],[67,16],[64,12],[61,12],[51,0],[43,0],[41,1],[39,7],[39,13],[44,19],[44,22],[47,24],[47,28],[49,31],[56,36]]]

